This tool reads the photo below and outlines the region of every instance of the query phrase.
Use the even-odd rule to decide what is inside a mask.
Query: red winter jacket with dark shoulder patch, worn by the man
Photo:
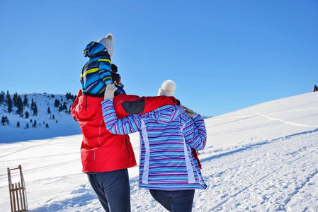
[[[83,172],[109,172],[136,165],[128,135],[107,131],[101,112],[103,98],[82,95],[81,90],[71,106],[71,114],[79,122],[83,141],[81,163]],[[146,113],[164,105],[178,105],[174,97],[142,97],[120,94],[113,99],[118,118],[127,114]]]

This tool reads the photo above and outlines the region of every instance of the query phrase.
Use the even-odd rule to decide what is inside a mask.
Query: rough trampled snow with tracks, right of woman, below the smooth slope
[[[205,158],[209,188],[196,192],[194,211],[317,211],[317,137],[314,130]]]

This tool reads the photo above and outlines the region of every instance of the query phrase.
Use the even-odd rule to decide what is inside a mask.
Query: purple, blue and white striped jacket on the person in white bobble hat
[[[200,115],[166,105],[146,114],[118,119],[113,100],[101,102],[106,128],[113,134],[140,131],[140,187],[160,190],[205,189],[192,148],[203,150],[207,135]]]

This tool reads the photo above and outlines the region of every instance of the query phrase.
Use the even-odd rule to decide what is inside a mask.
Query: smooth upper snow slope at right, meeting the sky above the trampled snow
[[[314,131],[318,128],[318,92],[264,102],[207,119],[205,124],[215,148]]]

